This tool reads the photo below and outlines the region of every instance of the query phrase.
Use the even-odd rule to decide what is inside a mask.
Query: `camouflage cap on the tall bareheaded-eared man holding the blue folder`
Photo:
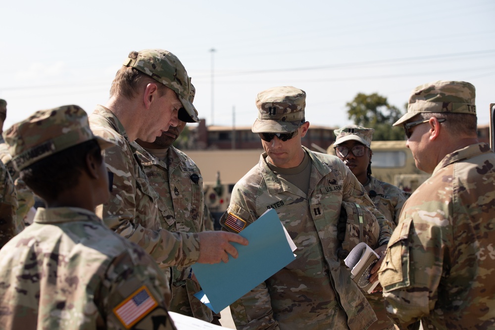
[[[123,65],[143,72],[174,91],[189,115],[182,116],[182,118],[187,119],[183,121],[198,123],[198,111],[189,101],[191,78],[189,78],[179,58],[163,49],[143,49],[137,53],[138,56],[134,59],[131,58],[131,52]]]

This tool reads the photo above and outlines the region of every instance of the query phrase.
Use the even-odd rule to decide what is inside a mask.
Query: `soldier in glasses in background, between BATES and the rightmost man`
[[[395,229],[400,210],[410,194],[394,185],[382,182],[371,175],[371,157],[373,155],[371,140],[373,139],[374,131],[372,128],[364,128],[357,125],[348,125],[335,130],[335,154],[356,176],[357,180],[366,189],[375,207],[385,218],[393,223],[393,228]],[[379,264],[372,270],[375,277],[377,276],[378,269]],[[366,298],[371,307],[373,307],[373,311],[378,319],[368,329],[395,329],[394,323],[389,319],[385,311],[382,292],[367,294]]]

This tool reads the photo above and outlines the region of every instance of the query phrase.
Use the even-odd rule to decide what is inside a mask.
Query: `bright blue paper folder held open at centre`
[[[215,313],[296,259],[296,245],[274,209],[267,210],[239,235],[249,244],[233,243],[239,252],[237,259],[229,255],[228,263],[192,266],[202,288],[195,296]]]

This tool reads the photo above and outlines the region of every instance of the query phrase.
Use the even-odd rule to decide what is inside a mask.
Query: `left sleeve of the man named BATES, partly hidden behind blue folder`
[[[244,222],[241,226],[247,226],[256,220],[254,214],[255,207],[244,198],[238,185],[232,191],[230,205],[227,211],[222,215],[220,224],[223,231],[239,233],[234,230],[236,226],[229,227],[226,225],[229,213],[235,215],[239,221]],[[246,293],[242,298],[230,305],[232,319],[237,329],[243,330],[276,330],[279,329],[277,321],[273,317],[270,293],[263,282],[254,289]]]

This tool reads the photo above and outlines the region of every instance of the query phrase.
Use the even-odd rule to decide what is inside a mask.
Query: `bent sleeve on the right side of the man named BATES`
[[[368,196],[366,189],[364,189],[364,187],[359,183],[349,168],[343,162],[337,162],[335,165],[339,166],[338,170],[344,177],[344,195],[342,200],[345,202],[357,203],[369,209],[380,225],[378,246],[387,244],[390,240],[390,236],[392,235],[392,223],[375,208],[375,205]]]

